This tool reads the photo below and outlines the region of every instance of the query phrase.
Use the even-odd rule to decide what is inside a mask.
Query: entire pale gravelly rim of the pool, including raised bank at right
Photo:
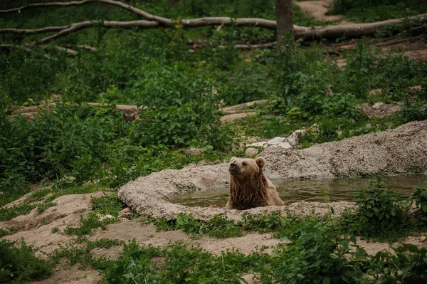
[[[292,150],[268,147],[260,156],[265,157],[266,172],[273,179],[310,179],[405,174],[427,170],[427,120],[411,122],[394,130],[352,137],[339,142],[317,144]],[[187,207],[172,204],[170,199],[185,191],[209,190],[229,184],[228,164],[216,164],[181,170],[167,169],[139,177],[122,186],[119,195],[133,210],[147,217],[173,218],[181,212],[199,219],[210,219],[215,214],[226,214],[241,219],[243,212],[268,214],[280,210],[309,212],[315,209],[323,214],[334,207],[339,214],[351,202],[332,204],[297,202],[289,206],[269,206],[245,211],[216,208]],[[225,204],[224,204],[225,205]]]

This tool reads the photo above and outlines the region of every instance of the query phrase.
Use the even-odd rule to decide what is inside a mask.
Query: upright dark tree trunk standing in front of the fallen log
[[[293,31],[293,16],[292,16],[292,0],[275,0],[276,6],[276,23],[278,34],[278,45],[283,46],[285,41],[283,36],[286,32],[290,33],[292,40],[290,41],[290,48],[293,48],[294,31]]]

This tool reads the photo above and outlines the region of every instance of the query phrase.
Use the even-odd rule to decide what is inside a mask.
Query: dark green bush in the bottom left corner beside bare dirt
[[[32,246],[0,241],[0,283],[26,283],[42,280],[53,273],[53,263],[33,254]]]

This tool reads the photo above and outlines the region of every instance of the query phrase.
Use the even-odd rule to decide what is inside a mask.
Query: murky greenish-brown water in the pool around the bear
[[[358,189],[369,188],[371,178],[352,179],[306,179],[291,181],[272,181],[285,204],[296,201],[352,201]],[[393,189],[407,198],[413,192],[413,186],[427,181],[427,174],[384,177],[383,180]],[[225,206],[228,199],[228,187],[195,191],[180,194],[172,199],[173,203],[186,206]]]

